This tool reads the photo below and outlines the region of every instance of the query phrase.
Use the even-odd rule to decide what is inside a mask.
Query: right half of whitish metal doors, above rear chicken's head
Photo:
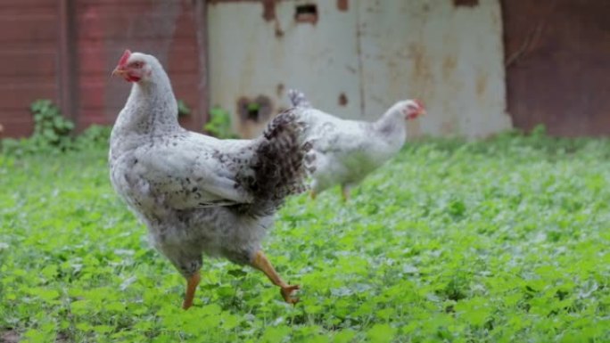
[[[511,127],[499,1],[358,3],[367,118],[419,97],[429,115],[410,135],[482,137]]]

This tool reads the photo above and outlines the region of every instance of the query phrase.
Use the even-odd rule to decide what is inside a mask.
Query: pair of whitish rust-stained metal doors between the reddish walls
[[[305,4],[317,16],[298,15]],[[208,13],[210,102],[234,113],[244,136],[288,106],[290,87],[342,118],[377,118],[418,97],[429,116],[411,135],[475,137],[511,125],[498,0],[215,0]],[[258,117],[243,105],[257,99]]]

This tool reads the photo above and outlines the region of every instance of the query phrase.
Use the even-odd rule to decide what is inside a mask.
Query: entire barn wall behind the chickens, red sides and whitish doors
[[[192,130],[219,111],[257,135],[296,87],[342,118],[419,98],[414,136],[610,133],[607,0],[2,0],[0,13],[4,137],[31,135],[39,99],[79,131],[111,125],[126,48],[168,69]]]

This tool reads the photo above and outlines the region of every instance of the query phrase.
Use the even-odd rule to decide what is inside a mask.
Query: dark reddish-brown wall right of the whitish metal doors
[[[610,134],[610,1],[504,0],[508,111],[515,127]]]

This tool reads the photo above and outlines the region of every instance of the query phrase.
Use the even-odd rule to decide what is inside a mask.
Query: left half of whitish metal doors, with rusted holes
[[[288,107],[290,87],[319,108],[359,117],[357,12],[345,3],[209,2],[210,104],[234,114],[240,135],[259,135]]]

